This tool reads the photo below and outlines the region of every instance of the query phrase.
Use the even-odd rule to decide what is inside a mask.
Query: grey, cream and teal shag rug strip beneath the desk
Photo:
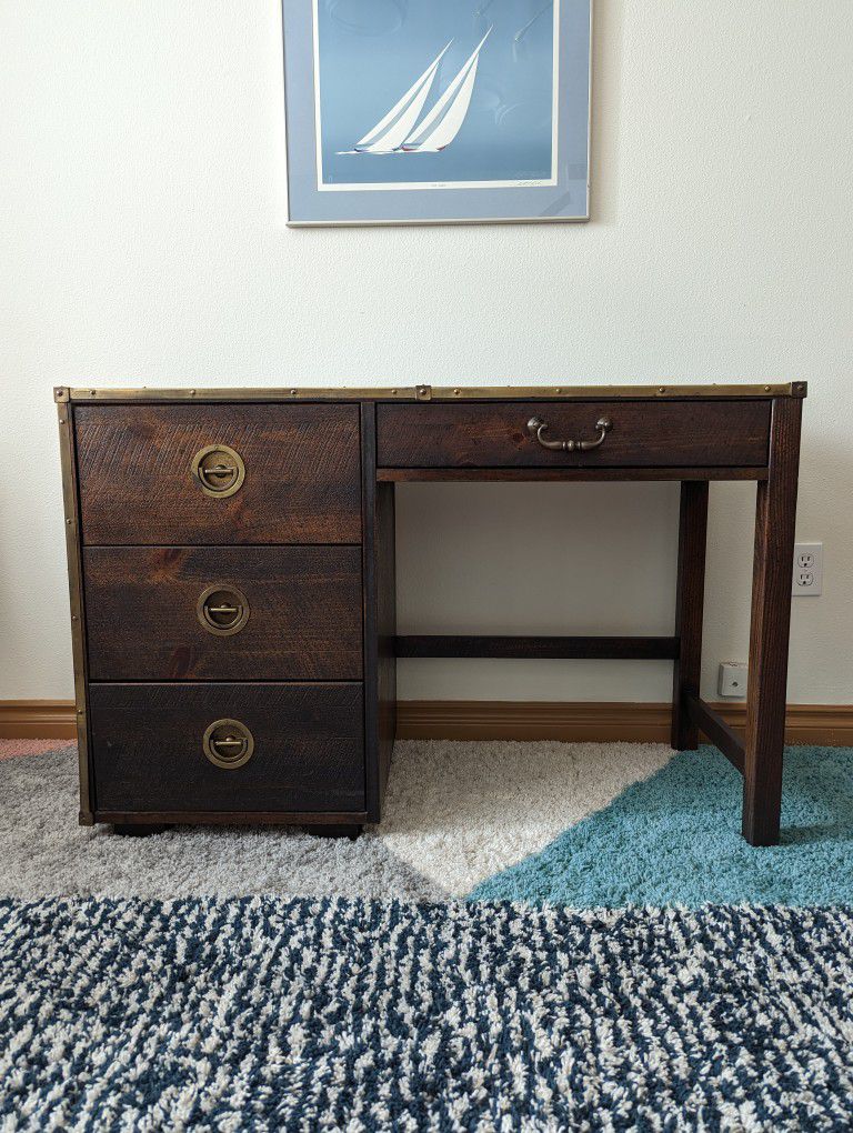
[[[581,909],[853,904],[853,749],[790,748],[782,844],[740,836],[714,748],[399,743],[357,842],[264,827],[77,825],[72,748],[0,759],[0,895],[510,900]]]

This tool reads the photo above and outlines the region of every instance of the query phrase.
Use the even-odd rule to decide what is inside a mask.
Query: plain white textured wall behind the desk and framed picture
[[[853,3],[599,0],[587,225],[284,227],[276,0],[0,0],[0,699],[70,697],[54,384],[807,380],[790,698],[853,700]],[[389,327],[393,332],[389,333]],[[402,630],[669,630],[674,485],[400,492]],[[711,488],[706,693],[753,488]],[[408,698],[667,665],[408,663]]]

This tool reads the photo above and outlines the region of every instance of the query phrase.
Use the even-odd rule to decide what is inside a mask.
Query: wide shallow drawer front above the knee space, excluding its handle
[[[543,441],[604,440],[553,450]],[[602,419],[607,431],[597,428]],[[377,409],[381,468],[739,467],[767,463],[768,401],[528,401]]]

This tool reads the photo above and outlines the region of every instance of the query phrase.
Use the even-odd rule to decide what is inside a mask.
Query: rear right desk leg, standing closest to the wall
[[[696,751],[699,732],[690,719],[686,693],[699,695],[702,666],[705,548],[708,530],[708,482],[682,480],[679,519],[679,583],[675,636],[679,658],[673,667],[671,743],[676,751]]]

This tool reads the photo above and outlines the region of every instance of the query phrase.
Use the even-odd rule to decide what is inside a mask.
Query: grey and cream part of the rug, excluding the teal
[[[663,744],[403,741],[357,842],[275,827],[77,825],[71,747],[0,760],[0,894],[462,897],[673,756]]]

